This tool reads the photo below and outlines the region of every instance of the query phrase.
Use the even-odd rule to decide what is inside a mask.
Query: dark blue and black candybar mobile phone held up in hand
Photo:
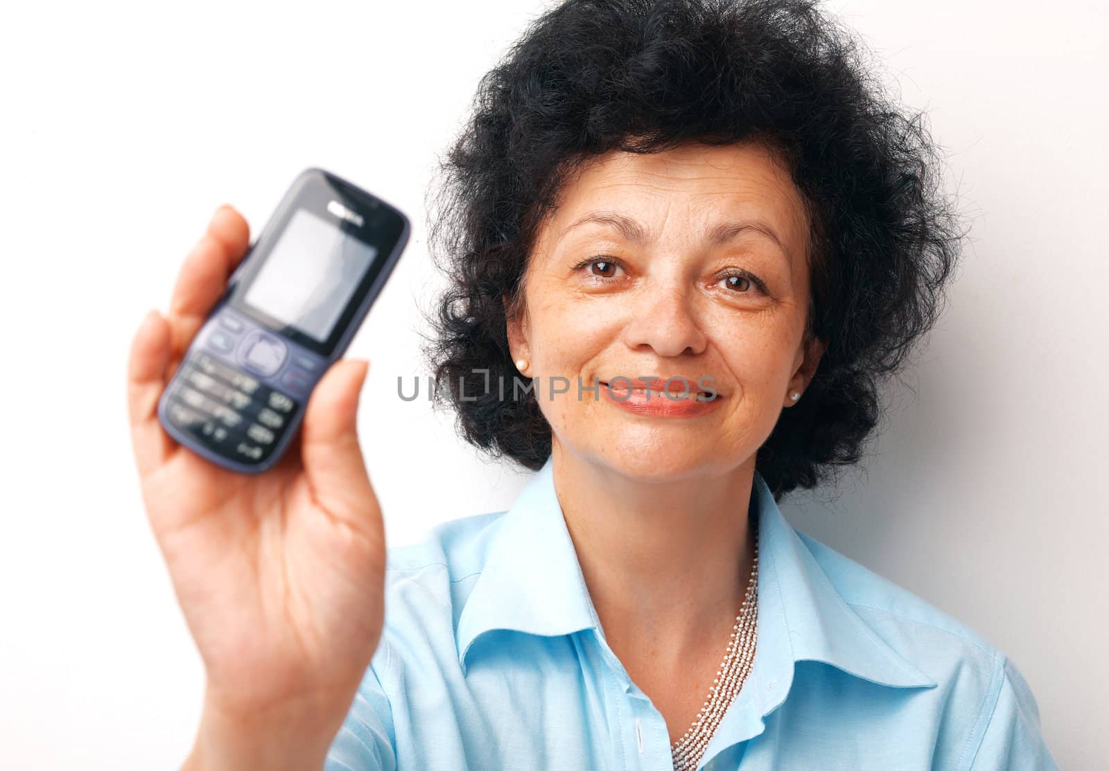
[[[225,469],[285,452],[408,243],[395,206],[322,168],[297,175],[166,384],[157,417]]]

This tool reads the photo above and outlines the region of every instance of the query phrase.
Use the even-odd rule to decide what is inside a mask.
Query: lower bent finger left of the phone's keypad
[[[177,445],[157,420],[170,352],[170,325],[151,310],[134,335],[128,359],[128,418],[140,476],[165,463]]]

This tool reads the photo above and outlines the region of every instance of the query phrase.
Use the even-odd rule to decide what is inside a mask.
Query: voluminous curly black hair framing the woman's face
[[[424,353],[466,440],[532,470],[550,454],[535,395],[488,383],[519,376],[507,315],[568,175],[612,150],[760,141],[808,210],[806,336],[827,348],[756,470],[780,500],[857,463],[879,386],[938,318],[965,235],[924,114],[886,95],[864,53],[810,0],[568,0],[533,20],[481,80],[433,201],[450,284]]]

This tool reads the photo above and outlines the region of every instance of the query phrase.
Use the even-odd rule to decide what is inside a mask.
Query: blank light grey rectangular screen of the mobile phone
[[[378,250],[307,209],[288,226],[243,301],[326,342]]]

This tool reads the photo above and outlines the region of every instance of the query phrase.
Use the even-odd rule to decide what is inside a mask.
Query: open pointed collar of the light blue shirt
[[[548,458],[499,517],[485,567],[458,620],[464,674],[467,654],[491,629],[552,636],[591,628],[603,639],[554,494],[552,471]],[[757,472],[752,494],[759,511],[759,626],[747,675],[752,687],[744,683],[725,712],[705,748],[705,762],[724,747],[762,731],[762,718],[790,690],[796,661],[824,661],[894,688],[937,685],[852,610]]]

